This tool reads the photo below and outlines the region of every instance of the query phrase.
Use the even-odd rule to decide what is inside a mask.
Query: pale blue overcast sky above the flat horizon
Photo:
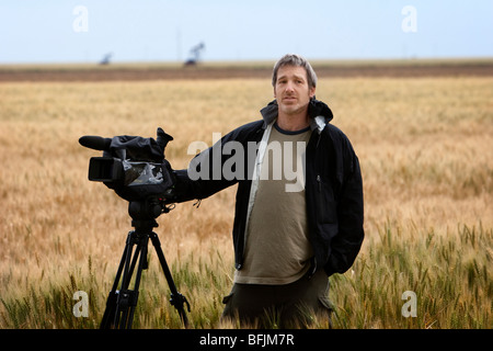
[[[0,64],[493,57],[492,0],[0,0]]]

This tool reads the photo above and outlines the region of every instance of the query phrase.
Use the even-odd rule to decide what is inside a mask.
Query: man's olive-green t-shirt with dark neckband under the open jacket
[[[234,282],[289,284],[309,269],[305,152],[311,131],[272,128],[246,229],[244,264]]]

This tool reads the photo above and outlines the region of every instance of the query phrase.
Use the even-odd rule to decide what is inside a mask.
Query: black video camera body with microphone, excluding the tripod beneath
[[[87,135],[79,143],[103,151],[102,157],[90,159],[89,180],[103,182],[129,202],[144,202],[172,194],[174,174],[164,157],[171,140],[173,137],[158,127],[156,140],[128,135],[113,138]]]

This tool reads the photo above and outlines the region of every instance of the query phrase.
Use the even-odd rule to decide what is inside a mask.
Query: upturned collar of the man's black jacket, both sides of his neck
[[[277,101],[271,101],[265,107],[261,110],[262,117],[264,118],[263,128],[273,123],[277,118]],[[311,131],[322,133],[325,125],[334,117],[331,109],[322,101],[317,100],[314,97],[310,100],[308,105],[308,115],[310,117]]]

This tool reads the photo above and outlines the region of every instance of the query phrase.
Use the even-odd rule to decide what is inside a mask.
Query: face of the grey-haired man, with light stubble
[[[307,109],[316,88],[308,86],[307,71],[299,66],[283,66],[277,71],[274,97],[279,112],[288,115],[297,114]]]

